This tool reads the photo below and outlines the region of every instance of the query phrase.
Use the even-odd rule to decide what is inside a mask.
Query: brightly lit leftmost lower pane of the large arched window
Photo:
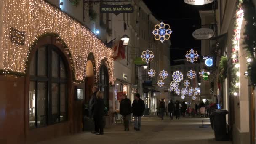
[[[29,85],[29,128],[35,128],[35,82]]]

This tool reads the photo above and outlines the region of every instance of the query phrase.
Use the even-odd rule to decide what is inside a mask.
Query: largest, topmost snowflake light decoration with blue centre
[[[169,24],[161,22],[155,25],[155,29],[152,32],[155,35],[155,40],[160,40],[162,43],[170,38],[172,33]]]

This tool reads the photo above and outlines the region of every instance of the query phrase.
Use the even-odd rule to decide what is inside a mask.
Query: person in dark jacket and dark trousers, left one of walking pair
[[[129,119],[131,115],[131,101],[127,98],[126,94],[122,94],[122,100],[120,102],[120,114],[123,117],[123,124],[125,127],[124,131],[130,131],[129,130]]]

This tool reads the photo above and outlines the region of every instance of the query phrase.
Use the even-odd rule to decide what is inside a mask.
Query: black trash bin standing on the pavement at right
[[[228,141],[226,115],[227,110],[213,109],[211,117],[213,118],[213,129],[216,141]]]

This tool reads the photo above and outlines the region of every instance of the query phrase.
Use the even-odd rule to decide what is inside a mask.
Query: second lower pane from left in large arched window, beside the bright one
[[[47,83],[38,82],[37,88],[37,125],[45,126],[47,123]]]

